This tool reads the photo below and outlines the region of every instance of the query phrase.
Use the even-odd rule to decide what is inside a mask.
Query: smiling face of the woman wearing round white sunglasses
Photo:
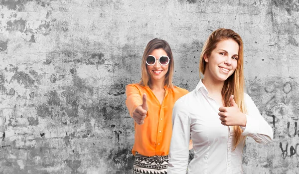
[[[154,83],[155,81],[164,81],[165,75],[168,72],[169,64],[167,64],[166,66],[160,65],[158,62],[158,58],[163,55],[167,56],[167,53],[163,49],[154,49],[152,52],[149,53],[149,55],[153,55],[156,58],[155,64],[147,65],[147,71],[151,83]]]

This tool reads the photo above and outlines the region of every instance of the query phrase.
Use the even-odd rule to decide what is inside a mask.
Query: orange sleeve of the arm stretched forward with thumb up
[[[129,110],[130,116],[133,116],[133,111],[137,106],[142,105],[142,96],[139,89],[132,84],[126,86],[126,106]]]

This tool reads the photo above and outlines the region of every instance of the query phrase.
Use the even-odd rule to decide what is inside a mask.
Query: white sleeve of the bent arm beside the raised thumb
[[[257,143],[267,144],[273,140],[273,131],[268,122],[263,118],[257,106],[249,95],[245,94],[248,114],[246,114],[246,127],[241,127],[243,136],[252,137]]]

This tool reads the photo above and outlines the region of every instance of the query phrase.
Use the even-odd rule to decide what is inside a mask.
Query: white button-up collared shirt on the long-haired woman
[[[241,127],[242,136],[250,136],[261,144],[271,142],[271,126],[247,94],[244,100],[248,114],[246,127]],[[201,80],[195,90],[176,101],[172,111],[168,174],[243,174],[245,137],[233,151],[233,128],[221,124],[219,107],[208,96]],[[190,139],[193,142],[194,158],[188,165]]]

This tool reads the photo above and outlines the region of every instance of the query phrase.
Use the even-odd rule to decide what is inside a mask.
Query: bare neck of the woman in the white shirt
[[[209,78],[206,76],[204,76],[204,78],[202,79],[202,83],[207,88],[210,94],[221,94],[224,85],[224,81],[214,80],[213,78]]]

